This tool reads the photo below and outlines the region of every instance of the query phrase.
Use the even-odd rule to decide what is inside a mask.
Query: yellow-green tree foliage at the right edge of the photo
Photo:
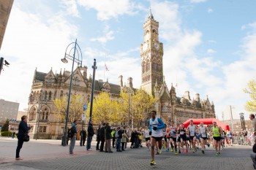
[[[247,88],[244,89],[244,93],[249,94],[249,101],[246,101],[245,109],[249,112],[256,112],[256,82],[250,80],[247,84]]]

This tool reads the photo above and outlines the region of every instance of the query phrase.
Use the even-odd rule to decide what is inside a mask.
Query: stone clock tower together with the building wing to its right
[[[195,99],[191,99],[189,91],[185,91],[183,97],[178,97],[173,85],[168,90],[163,76],[164,50],[162,42],[159,42],[158,28],[159,23],[150,12],[148,20],[143,24],[144,42],[140,45],[141,88],[157,98],[157,115],[165,123],[173,120],[176,125],[189,118],[215,117],[214,104],[209,101],[208,96],[201,100],[197,93]]]

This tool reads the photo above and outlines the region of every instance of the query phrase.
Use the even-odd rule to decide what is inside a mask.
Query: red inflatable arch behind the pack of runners
[[[199,125],[201,122],[203,122],[204,125],[209,125],[212,124],[213,122],[216,122],[217,125],[219,125],[222,129],[224,129],[225,131],[230,131],[230,126],[227,125],[226,123],[223,123],[215,118],[204,118],[204,119],[189,119],[186,122],[184,122],[184,127],[187,128],[187,126],[190,123],[190,120],[193,120],[193,123],[195,125]]]

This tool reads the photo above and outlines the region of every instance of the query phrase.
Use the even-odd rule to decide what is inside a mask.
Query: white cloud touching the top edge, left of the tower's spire
[[[119,15],[134,15],[135,4],[129,0],[78,0],[86,9],[95,9],[98,20],[110,20]]]

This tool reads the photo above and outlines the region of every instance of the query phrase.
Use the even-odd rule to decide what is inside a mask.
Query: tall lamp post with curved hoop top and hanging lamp
[[[72,45],[75,44],[75,47],[72,47]],[[69,50],[69,53],[67,53],[67,50]],[[70,55],[70,53],[74,50],[73,55]],[[78,58],[75,58],[75,53],[78,54]],[[75,39],[75,42],[70,43],[65,51],[64,58],[61,59],[63,63],[67,63],[67,58],[72,61],[72,69],[71,69],[71,75],[70,75],[70,85],[69,85],[69,98],[67,100],[67,113],[66,113],[66,123],[65,123],[65,129],[64,129],[64,138],[63,138],[63,146],[67,145],[67,122],[69,121],[69,101],[71,96],[71,89],[72,89],[72,79],[73,79],[73,69],[74,69],[74,63],[78,63],[78,66],[82,66],[82,52],[80,50],[80,47],[77,43],[77,39]]]

